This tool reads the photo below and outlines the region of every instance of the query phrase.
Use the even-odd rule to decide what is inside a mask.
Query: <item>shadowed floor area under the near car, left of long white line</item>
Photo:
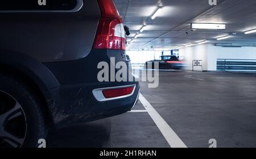
[[[145,110],[140,102],[133,110]],[[100,121],[52,130],[49,147],[170,147],[147,112],[127,112]]]

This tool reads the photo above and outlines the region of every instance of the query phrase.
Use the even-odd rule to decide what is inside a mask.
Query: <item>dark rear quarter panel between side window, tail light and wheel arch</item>
[[[39,62],[81,59],[92,50],[100,16],[97,1],[88,0],[77,12],[0,12],[0,49]]]

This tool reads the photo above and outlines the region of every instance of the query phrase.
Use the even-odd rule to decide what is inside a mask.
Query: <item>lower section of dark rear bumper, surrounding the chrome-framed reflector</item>
[[[55,127],[67,127],[126,113],[138,100],[140,87],[139,83],[134,84],[136,87],[131,96],[110,101],[98,101],[92,92],[95,88],[116,86],[112,83],[68,85],[51,89],[55,101],[51,108]]]

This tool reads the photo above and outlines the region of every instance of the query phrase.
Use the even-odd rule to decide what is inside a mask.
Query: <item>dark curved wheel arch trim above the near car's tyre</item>
[[[49,124],[52,124],[52,114],[49,109],[53,99],[49,89],[59,87],[59,81],[51,71],[42,63],[29,57],[26,54],[9,50],[0,50],[0,72],[12,76],[26,83],[42,102],[44,113],[49,117]]]

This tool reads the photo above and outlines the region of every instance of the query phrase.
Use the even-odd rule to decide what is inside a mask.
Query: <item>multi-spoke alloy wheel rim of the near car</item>
[[[0,90],[0,147],[22,147],[27,136],[27,118],[19,102]]]

